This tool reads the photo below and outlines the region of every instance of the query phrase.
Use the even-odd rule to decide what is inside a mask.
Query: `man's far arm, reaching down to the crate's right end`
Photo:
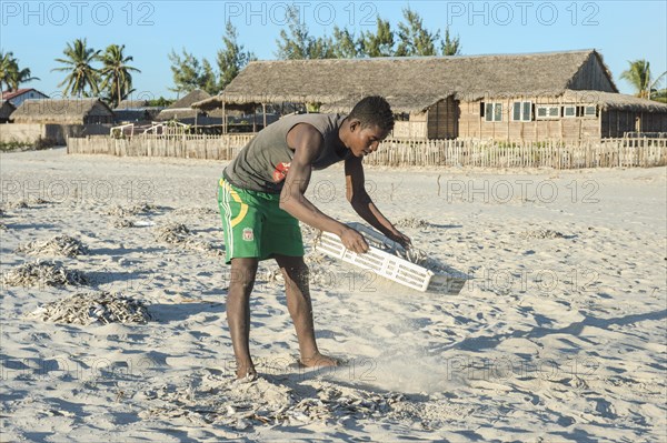
[[[398,231],[394,224],[375,205],[366,192],[364,163],[361,158],[351,157],[345,161],[346,197],[355,212],[366,220],[371,226],[400,243],[404,248],[411,245],[410,239]]]

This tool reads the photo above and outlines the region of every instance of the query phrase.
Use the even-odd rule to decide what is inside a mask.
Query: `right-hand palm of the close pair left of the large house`
[[[115,107],[132,91],[132,74],[130,72],[141,72],[137,68],[127,64],[133,58],[125,57],[123,50],[125,44],[120,47],[110,44],[99,58],[103,64],[100,69],[100,74],[103,78],[101,89],[109,90],[109,99]]]

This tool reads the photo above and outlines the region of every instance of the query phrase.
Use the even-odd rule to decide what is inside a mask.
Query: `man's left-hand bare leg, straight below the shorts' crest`
[[[231,259],[227,293],[227,323],[237,363],[237,377],[255,376],[250,358],[250,293],[257,274],[257,259]]]

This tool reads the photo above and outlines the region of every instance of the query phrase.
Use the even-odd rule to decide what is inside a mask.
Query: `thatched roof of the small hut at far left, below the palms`
[[[11,114],[16,123],[79,124],[86,117],[112,117],[109,107],[98,99],[26,100]]]

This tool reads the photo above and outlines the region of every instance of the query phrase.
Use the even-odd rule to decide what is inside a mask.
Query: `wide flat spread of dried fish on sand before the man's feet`
[[[315,421],[347,422],[381,419],[395,405],[405,402],[402,394],[374,393],[352,387],[313,382],[316,396],[301,396],[288,386],[265,379],[237,382],[229,379],[178,389],[162,386],[143,392],[148,400],[160,402],[145,411],[142,417],[185,417],[197,424],[230,426],[237,431],[261,425],[303,425]]]

